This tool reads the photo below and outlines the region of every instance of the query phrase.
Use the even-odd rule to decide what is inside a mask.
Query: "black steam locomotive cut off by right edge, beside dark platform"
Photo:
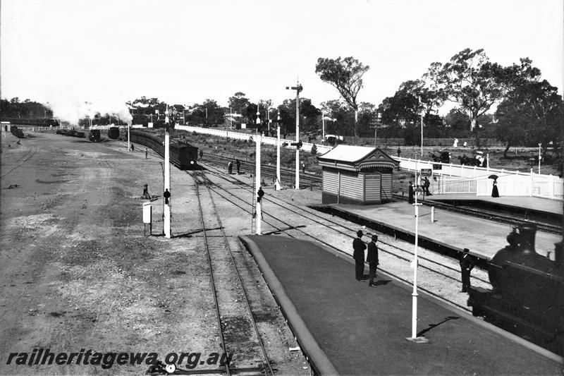
[[[564,251],[556,243],[555,259],[539,255],[537,226],[520,224],[508,245],[488,262],[492,290],[471,288],[468,305],[509,332],[562,354],[564,351]]]

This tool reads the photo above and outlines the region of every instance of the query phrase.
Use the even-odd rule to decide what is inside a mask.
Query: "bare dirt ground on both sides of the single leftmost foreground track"
[[[161,200],[153,205],[154,236],[144,236],[143,184],[162,194],[156,154],[145,159],[144,149],[127,152],[125,142],[47,133],[17,141],[2,135],[0,375],[139,375],[146,363],[120,364],[106,355],[221,355],[190,176],[171,173],[178,237],[158,236]],[[249,234],[231,215],[224,219],[230,236]],[[264,281],[250,276],[274,366],[280,374],[309,374],[301,353],[289,351],[298,345]],[[61,357],[59,365],[36,365],[32,357],[47,349],[77,354]],[[95,363],[94,353],[104,358]]]

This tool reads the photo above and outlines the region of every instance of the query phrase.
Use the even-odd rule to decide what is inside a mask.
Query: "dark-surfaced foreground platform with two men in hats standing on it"
[[[321,375],[561,375],[562,358],[424,293],[418,336],[411,287],[379,272],[355,280],[352,258],[285,236],[241,236],[302,350]]]

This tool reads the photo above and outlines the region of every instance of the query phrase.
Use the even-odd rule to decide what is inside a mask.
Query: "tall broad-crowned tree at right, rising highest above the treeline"
[[[424,79],[431,90],[468,111],[470,131],[475,132],[479,146],[477,119],[503,98],[506,87],[501,83],[505,73],[497,63],[489,62],[484,49],[464,49],[444,65],[432,63]]]

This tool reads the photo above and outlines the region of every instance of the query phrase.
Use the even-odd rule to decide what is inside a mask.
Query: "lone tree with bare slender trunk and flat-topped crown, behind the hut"
[[[319,58],[315,66],[315,73],[319,78],[337,89],[345,102],[355,111],[355,137],[358,135],[358,104],[357,95],[362,87],[362,75],[369,70],[353,56],[338,59]]]

